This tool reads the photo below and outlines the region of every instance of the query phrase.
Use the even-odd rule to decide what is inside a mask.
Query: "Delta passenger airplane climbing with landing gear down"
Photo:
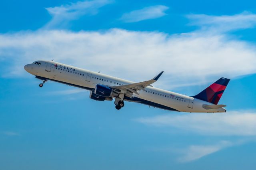
[[[90,91],[90,99],[112,101],[117,110],[124,107],[124,101],[142,103],[148,106],[188,113],[223,113],[226,105],[218,105],[230,79],[220,78],[195,96],[187,96],[152,86],[164,73],[148,81],[135,83],[125,79],[104,75],[55,61],[34,61],[24,69],[42,80],[55,81]]]

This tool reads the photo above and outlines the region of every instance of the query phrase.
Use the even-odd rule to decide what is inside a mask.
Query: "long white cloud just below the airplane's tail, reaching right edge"
[[[224,114],[163,115],[136,119],[156,127],[176,128],[184,133],[223,136],[255,136],[256,113],[231,111]]]

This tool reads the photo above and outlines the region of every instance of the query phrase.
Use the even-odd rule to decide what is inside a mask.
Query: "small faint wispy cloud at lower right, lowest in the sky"
[[[218,152],[223,148],[233,146],[234,144],[229,141],[220,141],[212,145],[191,145],[181,151],[182,156],[178,158],[180,162],[190,162],[202,158],[203,156]]]

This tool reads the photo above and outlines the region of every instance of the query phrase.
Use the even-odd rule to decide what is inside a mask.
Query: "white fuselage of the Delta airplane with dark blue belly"
[[[93,91],[96,84],[106,86],[118,86],[134,83],[132,81],[96,73],[74,66],[57,63],[54,61],[37,61],[39,64],[28,64],[24,68],[32,75],[73,85]],[[56,66],[57,65],[57,66]],[[146,91],[140,90],[133,94],[133,98],[126,97],[125,101],[138,102],[161,109],[190,112],[190,113],[218,113],[226,112],[226,109],[204,109],[203,105],[212,105],[206,101],[194,99],[186,95],[147,86]]]

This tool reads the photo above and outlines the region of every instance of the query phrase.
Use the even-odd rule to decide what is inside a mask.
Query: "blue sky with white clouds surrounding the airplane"
[[[0,6],[0,169],[254,169],[256,2],[24,0]],[[231,81],[226,114],[89,99],[24,71],[38,59],[195,95]]]

